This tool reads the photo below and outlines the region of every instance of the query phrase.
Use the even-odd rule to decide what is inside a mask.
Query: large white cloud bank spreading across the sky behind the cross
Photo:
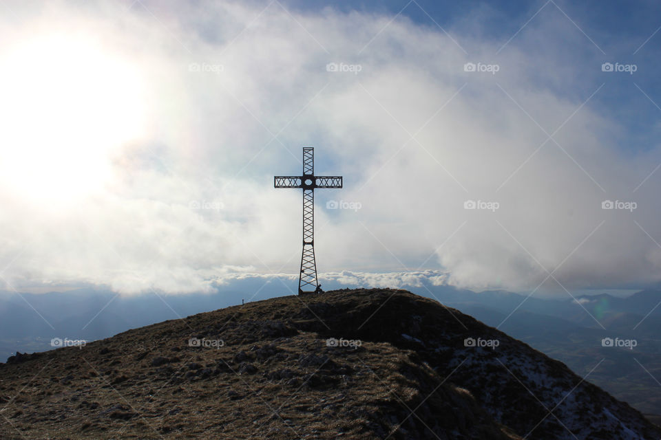
[[[294,21],[276,3],[261,15],[263,5],[145,4],[158,20],[118,3],[41,13],[15,3],[3,18],[0,60],[54,29],[94,36],[137,69],[148,107],[147,134],[112,151],[103,190],[65,204],[3,188],[12,285],[193,292],[237,270],[296,272],[301,195],[271,182],[300,171],[305,145],[317,147],[318,173],[345,177],[344,189],[317,193],[315,213],[319,270],[339,282],[415,285],[430,255],[426,267],[442,272],[433,283],[472,289],[533,289],[547,277],[541,266],[560,264],[554,277],[567,288],[660,280],[661,250],[641,230],[660,240],[660,176],[633,192],[661,162],[658,146],[625,155],[611,141],[617,121],[594,100],[583,106],[602,80],[596,56],[567,48],[591,43],[566,18],[539,17],[495,56],[503,41],[455,28],[466,55],[403,18],[368,44],[390,17],[327,9]],[[561,41],[545,37],[553,30],[566,31]],[[361,71],[327,72],[331,62]],[[464,72],[468,62],[499,72]],[[326,210],[328,199],[361,209]],[[464,210],[468,199],[500,208]],[[638,209],[602,210],[605,199]],[[412,274],[367,273],[384,271]]]

